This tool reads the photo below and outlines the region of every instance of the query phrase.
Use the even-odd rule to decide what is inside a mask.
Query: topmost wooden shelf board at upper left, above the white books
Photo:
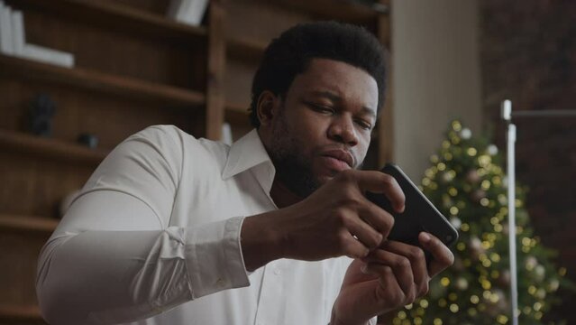
[[[114,31],[137,32],[146,37],[168,41],[193,43],[206,39],[206,28],[172,21],[160,14],[152,14],[129,5],[91,0],[18,0],[16,7],[38,9],[61,17],[97,24]]]

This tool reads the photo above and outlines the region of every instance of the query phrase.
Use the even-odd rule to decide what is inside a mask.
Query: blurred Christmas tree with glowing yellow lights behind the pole
[[[498,149],[453,121],[431,163],[421,190],[459,229],[452,247],[455,261],[432,280],[424,298],[398,311],[392,323],[511,323],[507,179]],[[558,300],[554,293],[569,283],[563,277],[566,269],[553,265],[554,252],[534,235],[525,196],[526,189],[517,187],[517,312],[520,324],[542,324]]]

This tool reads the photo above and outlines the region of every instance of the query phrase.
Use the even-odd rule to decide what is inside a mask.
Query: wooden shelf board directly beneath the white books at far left
[[[205,95],[198,91],[93,70],[62,68],[5,55],[0,55],[0,68],[1,73],[12,73],[17,78],[47,80],[119,97],[160,101],[172,106],[201,106],[206,102]]]

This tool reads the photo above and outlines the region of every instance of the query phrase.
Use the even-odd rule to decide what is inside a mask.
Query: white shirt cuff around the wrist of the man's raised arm
[[[250,285],[240,246],[243,217],[187,228],[186,264],[192,299]]]

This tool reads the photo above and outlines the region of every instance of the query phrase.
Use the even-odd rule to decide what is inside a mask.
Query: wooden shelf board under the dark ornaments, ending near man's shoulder
[[[100,163],[108,151],[90,149],[79,144],[50,138],[41,138],[23,133],[0,130],[0,148],[35,156],[48,156],[57,160],[79,163]]]

